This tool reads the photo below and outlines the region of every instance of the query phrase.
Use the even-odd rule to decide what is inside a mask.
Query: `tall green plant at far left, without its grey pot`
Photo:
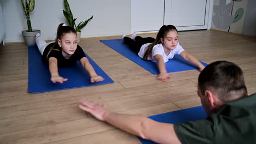
[[[21,0],[21,3],[24,10],[24,14],[26,15],[26,19],[27,19],[28,32],[33,32],[31,27],[31,22],[30,22],[30,12],[34,9],[34,0],[28,0],[28,1],[29,2],[27,2],[27,0],[25,1],[25,5],[23,0]]]

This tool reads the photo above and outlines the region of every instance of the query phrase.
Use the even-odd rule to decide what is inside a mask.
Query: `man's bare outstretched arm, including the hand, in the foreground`
[[[156,122],[142,116],[110,112],[104,105],[85,99],[80,102],[80,109],[90,112],[100,121],[105,121],[143,139],[158,143],[181,143],[174,131],[173,124]]]

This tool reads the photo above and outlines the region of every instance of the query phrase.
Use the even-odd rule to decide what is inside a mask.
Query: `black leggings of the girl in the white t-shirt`
[[[135,52],[138,53],[141,49],[141,46],[147,43],[153,43],[155,41],[154,38],[148,37],[148,38],[142,38],[141,36],[135,37],[135,40],[124,37],[124,43],[129,46],[129,48]]]

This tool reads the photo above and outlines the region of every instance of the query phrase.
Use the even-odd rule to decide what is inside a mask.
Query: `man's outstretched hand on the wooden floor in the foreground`
[[[81,105],[79,105],[79,108],[91,113],[92,116],[96,117],[100,121],[105,121],[104,115],[108,112],[106,107],[104,105],[98,105],[92,101],[88,100],[80,100]]]

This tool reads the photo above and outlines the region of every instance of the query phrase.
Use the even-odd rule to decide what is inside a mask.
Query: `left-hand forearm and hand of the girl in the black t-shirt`
[[[49,58],[49,70],[50,70],[50,74],[51,74],[51,81],[53,83],[56,83],[56,82],[63,83],[68,80],[68,79],[64,79],[63,77],[61,77],[59,75],[58,66],[57,66],[57,58],[55,58],[55,57]]]

